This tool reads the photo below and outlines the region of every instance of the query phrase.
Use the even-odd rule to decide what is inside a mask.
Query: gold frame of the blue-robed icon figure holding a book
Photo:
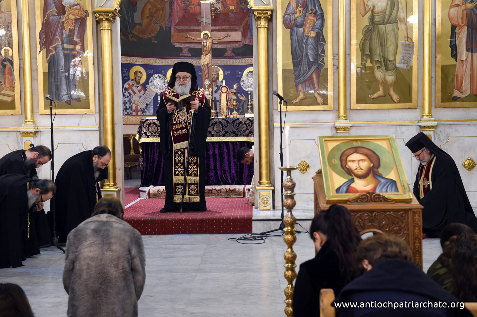
[[[277,0],[277,14],[276,14],[276,20],[278,20],[277,24],[277,59],[278,59],[278,67],[277,67],[277,81],[278,81],[278,92],[281,93],[285,98],[285,92],[283,91],[283,50],[290,50],[290,47],[287,47],[283,49],[283,13],[285,9],[287,8],[289,0]],[[321,2],[324,2],[324,0],[321,0]],[[325,35],[325,40],[326,40],[326,45],[325,45],[325,68],[327,69],[328,72],[328,82],[327,82],[327,91],[328,93],[328,105],[314,105],[314,106],[301,106],[301,105],[293,105],[291,103],[291,100],[289,100],[288,107],[286,107],[285,104],[282,105],[282,109],[285,110],[287,109],[288,111],[300,111],[300,110],[332,110],[333,109],[333,1],[328,0],[327,5],[326,5],[326,18],[325,18],[325,23],[326,23],[326,35]],[[303,14],[307,14],[309,12],[303,11]],[[280,19],[280,20],[279,20]],[[285,32],[290,33],[289,30],[285,29]],[[289,61],[291,63],[291,59]],[[287,78],[287,81],[294,82],[293,78]],[[294,84],[293,84],[294,86]],[[320,84],[320,87],[323,87],[322,84]],[[320,89],[320,92],[323,91],[323,89]],[[298,92],[297,92],[298,94]],[[322,94],[322,93],[321,93]],[[308,94],[307,99],[315,99],[312,94]],[[315,101],[316,103],[316,101]]]

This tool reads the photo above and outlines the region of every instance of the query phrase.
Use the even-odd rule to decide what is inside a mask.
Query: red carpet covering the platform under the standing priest
[[[206,198],[207,211],[160,213],[165,199],[141,199],[124,210],[124,220],[143,235],[251,233],[247,198]]]

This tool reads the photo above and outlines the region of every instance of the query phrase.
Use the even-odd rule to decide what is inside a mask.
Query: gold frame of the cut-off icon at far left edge
[[[1,105],[0,106],[0,115],[19,115],[19,114],[21,114],[21,102],[20,102],[21,94],[20,94],[20,66],[19,66],[20,55],[18,53],[17,0],[10,0],[10,1],[8,1],[8,0],[5,1],[4,0],[4,2],[10,2],[10,7],[11,7],[11,28],[12,28],[12,30],[10,30],[10,32],[11,32],[11,36],[12,36],[12,47],[10,48],[10,50],[12,50],[12,52],[10,52],[10,55],[13,55],[11,57],[12,57],[12,60],[13,60],[13,74],[14,74],[13,76],[15,78],[14,79],[14,82],[15,82],[14,89],[15,90],[14,90],[13,95],[8,96],[8,97],[10,97],[9,99],[11,99],[11,97],[14,97],[13,100],[11,100],[10,102],[7,102],[7,103],[4,102],[3,100],[0,100],[0,104],[14,103],[15,108],[8,107],[8,109],[6,109],[7,107],[2,107],[2,105]],[[8,11],[7,11],[7,13],[8,13]],[[3,59],[3,58],[0,57],[0,59]],[[3,69],[1,69],[0,71],[3,71]],[[3,89],[2,89],[2,91],[0,91],[0,95],[1,95],[1,92],[3,92]],[[2,108],[5,108],[5,109],[2,109]]]

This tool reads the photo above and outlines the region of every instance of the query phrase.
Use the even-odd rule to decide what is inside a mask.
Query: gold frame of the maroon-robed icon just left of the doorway
[[[81,58],[81,73],[83,77],[83,71],[84,71],[84,66],[83,63],[86,61],[87,67],[88,67],[88,84],[87,87],[89,91],[89,96],[86,96],[86,98],[89,98],[89,105],[88,108],[84,107],[82,109],[67,109],[68,105],[57,101],[57,114],[93,114],[94,113],[94,69],[93,69],[93,23],[96,23],[96,19],[94,17],[94,13],[91,8],[91,1],[88,0],[77,0],[79,4],[81,4],[84,8],[85,11],[88,11],[88,22],[86,24],[86,34],[85,37],[87,38],[87,41],[84,43],[84,53]],[[42,25],[42,20],[43,20],[43,3],[44,1],[38,0],[35,1],[35,20],[36,20],[36,45],[37,45],[37,54],[40,50],[40,37],[39,37],[39,32],[41,30],[41,25]],[[63,22],[62,22],[63,23]],[[72,50],[78,49],[77,46],[72,45]],[[46,50],[46,49],[45,49]],[[44,96],[45,94],[48,94],[48,89],[45,89],[44,87],[44,80],[43,80],[43,68],[46,70],[46,73],[48,72],[48,63],[46,62],[46,53],[45,50],[42,50],[40,54],[37,55],[38,58],[38,95],[39,96]],[[78,85],[78,81],[76,81],[76,84]],[[77,86],[78,87],[78,86]],[[85,91],[82,91],[83,93]],[[80,96],[80,103],[83,103],[84,100],[82,96]],[[71,101],[72,104],[71,106],[77,106],[78,103],[75,100]],[[39,113],[40,114],[50,114],[50,104],[49,101],[40,98],[40,103],[39,103]]]

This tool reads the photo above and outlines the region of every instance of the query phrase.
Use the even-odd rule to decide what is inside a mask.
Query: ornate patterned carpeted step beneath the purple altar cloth
[[[206,198],[249,197],[250,185],[213,185],[206,186]],[[164,186],[139,188],[139,198],[166,198]]]

